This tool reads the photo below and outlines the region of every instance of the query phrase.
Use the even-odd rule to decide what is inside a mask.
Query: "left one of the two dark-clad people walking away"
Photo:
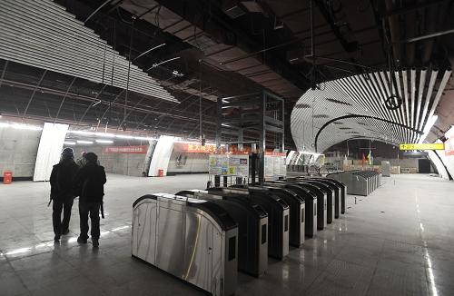
[[[79,166],[74,163],[74,151],[71,148],[64,148],[60,163],[52,168],[51,200],[52,222],[54,224],[54,241],[59,242],[62,234],[69,232],[69,221],[71,219],[71,209],[74,202],[74,178],[79,170]],[[63,221],[62,221],[62,210]]]

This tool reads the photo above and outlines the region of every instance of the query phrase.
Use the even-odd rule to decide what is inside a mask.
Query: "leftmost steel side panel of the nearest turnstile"
[[[133,211],[132,254],[144,261],[155,263],[156,252],[156,201],[143,201]]]

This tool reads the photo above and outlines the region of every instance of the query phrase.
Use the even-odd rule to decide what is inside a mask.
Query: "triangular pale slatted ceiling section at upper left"
[[[93,30],[50,0],[4,0],[0,58],[178,103]]]

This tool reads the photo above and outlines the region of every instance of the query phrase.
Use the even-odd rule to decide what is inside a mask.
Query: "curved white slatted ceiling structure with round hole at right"
[[[393,84],[390,72],[319,84],[303,94],[291,112],[291,134],[297,149],[323,152],[356,137],[416,143],[431,125],[450,74],[450,70],[411,69],[394,72]],[[401,99],[395,110],[386,107],[391,95]]]

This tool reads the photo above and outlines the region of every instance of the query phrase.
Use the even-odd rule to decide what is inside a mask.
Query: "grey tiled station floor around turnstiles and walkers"
[[[239,274],[236,295],[454,295],[454,183],[427,175],[383,178],[347,213],[270,261],[260,279]],[[48,183],[0,185],[0,295],[204,295],[131,258],[133,199],[203,188],[206,175],[109,175],[100,249],[71,233],[54,245]]]

